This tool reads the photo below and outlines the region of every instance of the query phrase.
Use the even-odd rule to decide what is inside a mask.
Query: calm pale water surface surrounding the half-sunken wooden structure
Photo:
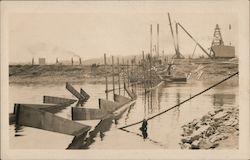
[[[91,97],[84,105],[98,108],[98,98],[105,99],[104,84],[74,84],[76,89],[83,88]],[[111,88],[111,85],[109,86]],[[141,124],[120,130],[127,124],[164,111],[190,96],[206,89],[208,84],[190,82],[185,84],[168,83],[145,94],[141,86],[134,87],[136,103],[118,121],[78,121],[91,125],[91,131],[82,137],[73,137],[31,127],[10,125],[10,147],[13,149],[179,149],[181,126],[199,119],[217,106],[238,106],[238,86],[219,85],[208,92],[188,101],[175,109],[148,121],[147,132],[139,129]],[[118,93],[118,91],[116,91]],[[125,95],[121,90],[120,94]],[[10,84],[9,112],[14,103],[41,104],[43,95],[74,98],[64,85],[18,85]],[[112,99],[111,94],[109,98]],[[74,104],[72,105],[72,107]],[[56,115],[71,119],[71,107]]]

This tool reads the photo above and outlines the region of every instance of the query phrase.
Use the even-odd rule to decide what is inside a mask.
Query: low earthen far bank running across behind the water
[[[157,68],[157,67],[156,67]],[[168,68],[167,64],[159,64],[158,68]],[[128,70],[134,75],[141,75],[142,67],[120,66],[120,74]],[[117,66],[115,74],[118,75]],[[107,67],[108,76],[111,77],[112,67]],[[185,74],[189,81],[203,81],[214,83],[238,71],[238,64],[225,60],[175,60],[172,65],[172,74]],[[64,84],[72,83],[104,83],[105,67],[103,65],[10,65],[9,83],[16,84]],[[131,74],[132,76],[132,74]],[[122,79],[122,77],[121,77]],[[112,79],[109,79],[111,82]],[[226,82],[228,83],[228,82]],[[233,78],[229,85],[238,85],[238,78]]]

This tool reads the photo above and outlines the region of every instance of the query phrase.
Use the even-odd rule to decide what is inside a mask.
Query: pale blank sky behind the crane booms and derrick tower
[[[156,44],[157,23],[160,24],[160,50],[165,54],[174,53],[168,12],[172,23],[181,23],[205,49],[210,47],[215,25],[219,24],[225,44],[231,42],[237,52],[238,15],[233,12],[208,12],[202,11],[202,7],[200,12],[192,9],[180,12],[166,9],[165,3],[82,3],[85,4],[29,6],[29,12],[9,14],[10,62],[28,62],[32,57],[45,57],[54,62],[56,57],[60,60],[77,56],[89,59],[102,57],[103,53],[132,55],[141,54],[142,50],[149,52],[150,24],[153,24],[153,44]],[[179,40],[182,54],[192,54],[195,43],[181,29]],[[195,54],[203,53],[197,49]]]

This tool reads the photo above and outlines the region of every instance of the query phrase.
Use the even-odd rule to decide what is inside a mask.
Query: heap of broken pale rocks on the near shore
[[[194,119],[192,122],[183,125],[182,129],[180,142],[182,149],[226,149],[232,147],[237,149],[239,108],[236,106],[218,106],[202,116],[201,119]],[[223,143],[227,143],[227,145]]]

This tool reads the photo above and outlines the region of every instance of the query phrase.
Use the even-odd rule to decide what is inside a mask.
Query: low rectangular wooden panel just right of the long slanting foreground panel
[[[108,115],[103,109],[72,107],[72,120],[99,120]]]

